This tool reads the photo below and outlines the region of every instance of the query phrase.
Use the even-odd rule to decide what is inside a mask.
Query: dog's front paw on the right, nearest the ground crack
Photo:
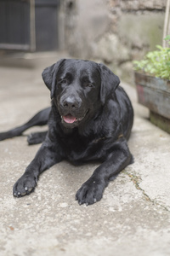
[[[99,201],[102,198],[103,192],[105,189],[105,182],[100,180],[95,180],[94,178],[89,178],[87,182],[82,184],[82,187],[78,189],[76,200],[79,205],[86,204],[92,205],[96,201]]]

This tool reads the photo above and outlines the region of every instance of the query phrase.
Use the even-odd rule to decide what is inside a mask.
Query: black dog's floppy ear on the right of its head
[[[120,84],[120,79],[104,64],[99,63],[98,65],[101,77],[100,100],[104,105],[106,98],[111,96]]]

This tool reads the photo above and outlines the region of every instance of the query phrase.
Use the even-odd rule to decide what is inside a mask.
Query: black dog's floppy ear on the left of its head
[[[57,61],[54,65],[50,67],[46,67],[42,72],[42,79],[48,89],[51,90],[51,98],[54,97],[56,76],[59,71],[59,67],[61,66],[61,63],[63,63],[63,61],[65,61],[65,59]]]

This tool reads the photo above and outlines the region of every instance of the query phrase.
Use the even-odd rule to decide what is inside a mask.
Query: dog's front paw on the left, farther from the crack
[[[21,197],[29,195],[35,189],[37,185],[37,177],[29,174],[23,174],[19,180],[14,184],[13,195],[15,197]]]

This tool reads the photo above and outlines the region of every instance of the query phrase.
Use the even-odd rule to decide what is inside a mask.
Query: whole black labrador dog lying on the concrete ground
[[[133,107],[119,78],[94,61],[62,59],[47,67],[42,79],[51,91],[52,107],[37,113],[25,125],[0,134],[0,140],[20,136],[33,125],[48,123],[48,132],[28,138],[42,143],[26,172],[14,184],[14,196],[30,194],[39,175],[61,160],[79,165],[99,160],[88,181],[77,191],[81,205],[102,198],[107,184],[133,162],[127,139],[133,126]]]

